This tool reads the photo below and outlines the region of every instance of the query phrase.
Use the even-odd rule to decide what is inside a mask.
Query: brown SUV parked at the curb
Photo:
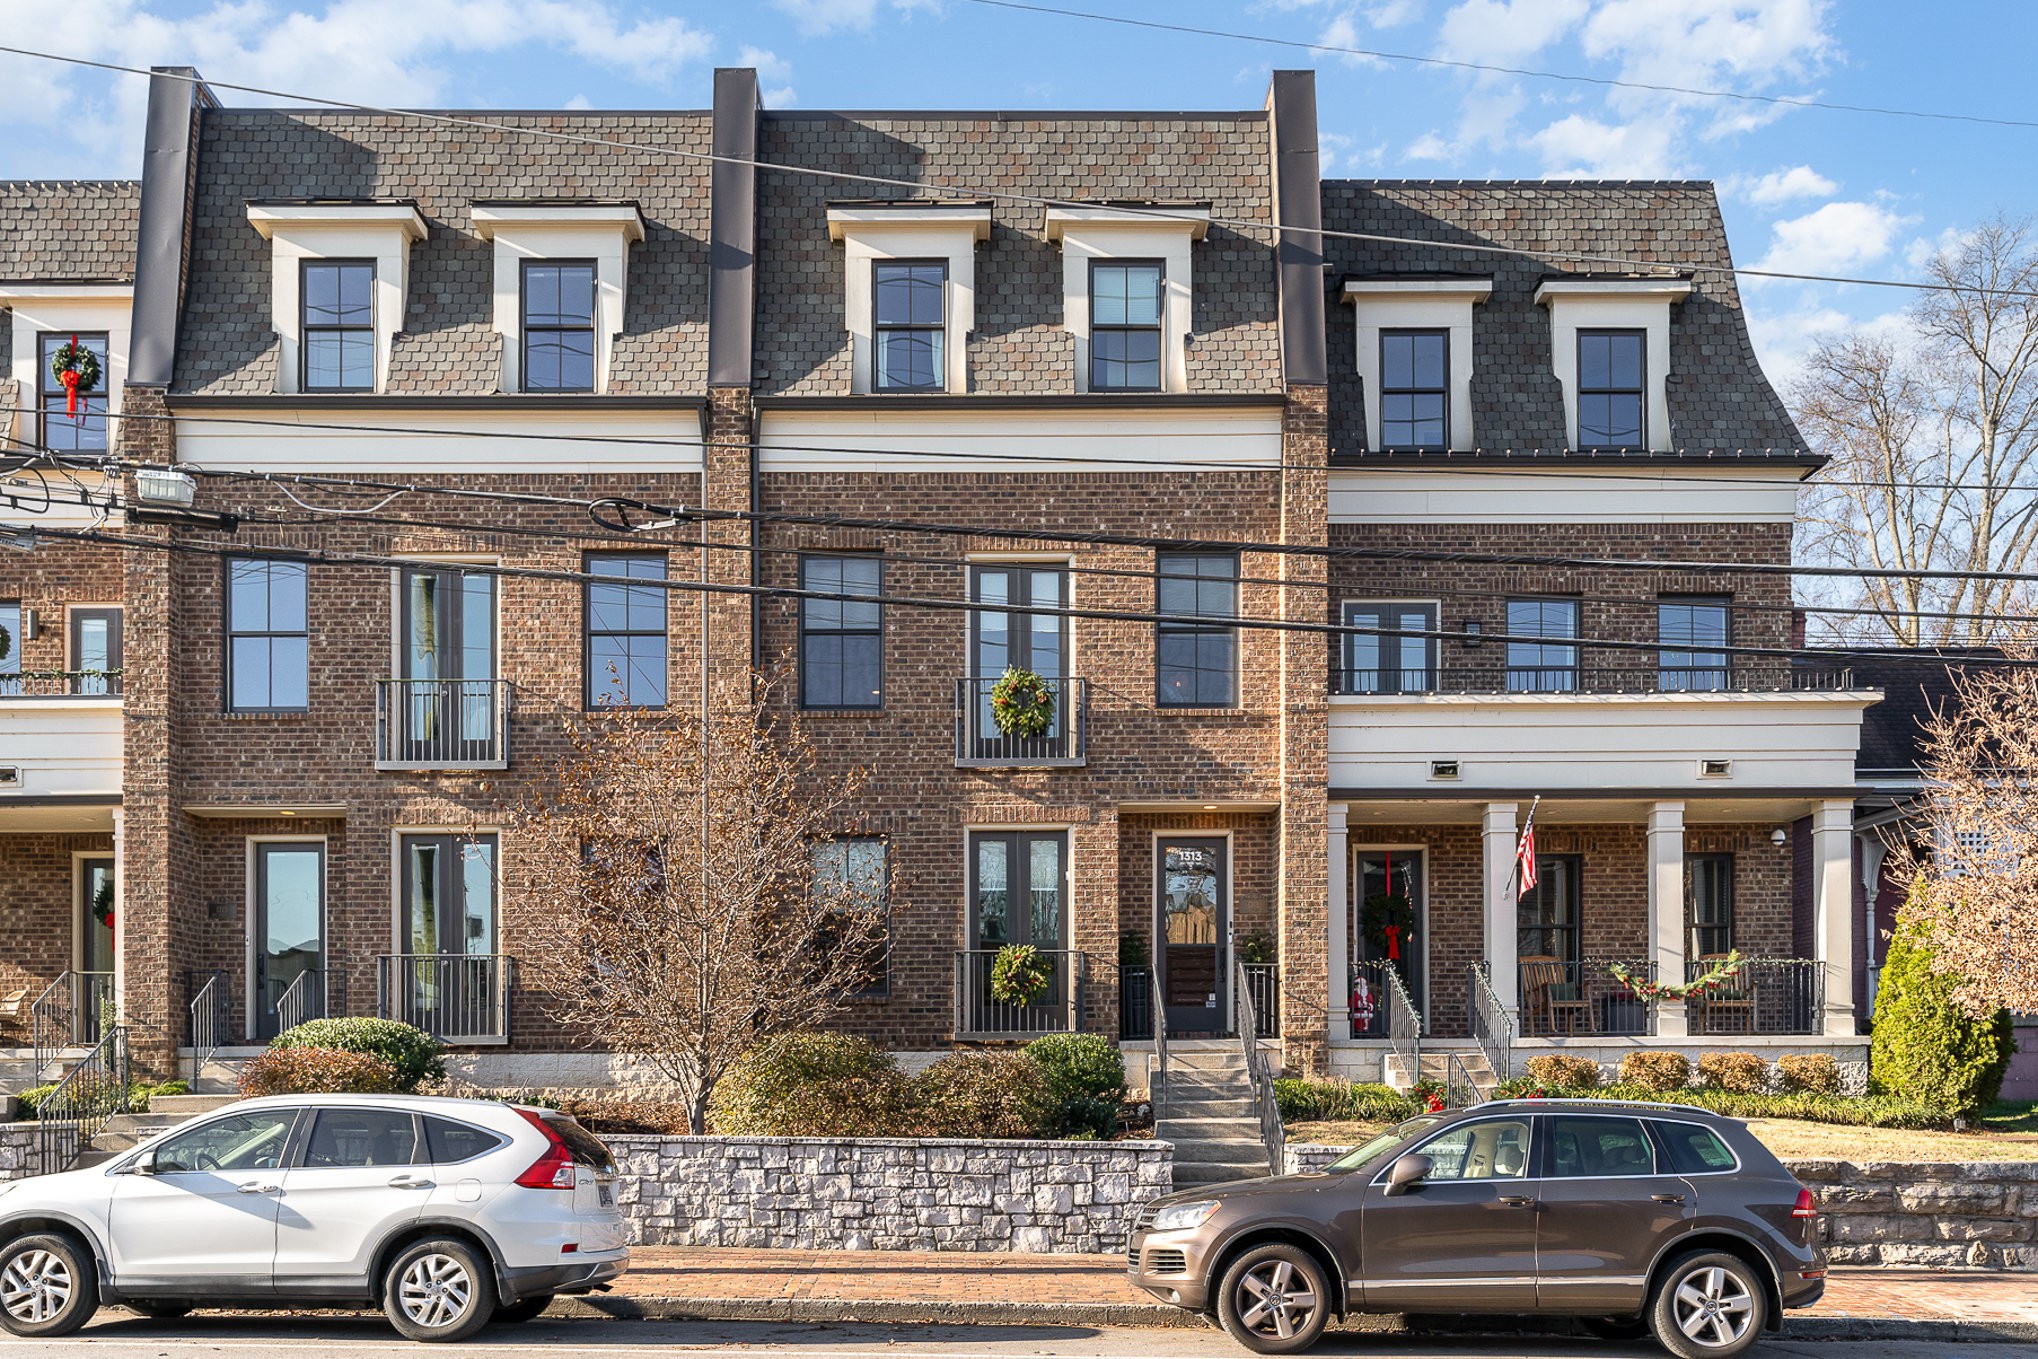
[[[1687,1104],[1425,1115],[1319,1174],[1158,1198],[1127,1249],[1133,1284],[1264,1355],[1345,1312],[1535,1312],[1728,1359],[1826,1290],[1812,1192]]]

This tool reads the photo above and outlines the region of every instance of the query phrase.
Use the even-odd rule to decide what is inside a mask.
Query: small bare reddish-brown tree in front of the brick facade
[[[815,870],[856,829],[862,774],[825,776],[760,689],[705,731],[677,711],[575,719],[575,758],[520,815],[550,903],[534,980],[562,1023],[673,1080],[695,1133],[746,1047],[870,982],[887,929],[882,884]]]

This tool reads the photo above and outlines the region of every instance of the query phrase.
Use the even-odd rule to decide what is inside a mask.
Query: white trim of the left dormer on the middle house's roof
[[[990,240],[988,204],[832,204],[827,238],[842,242],[842,316],[850,332],[850,391],[876,391],[876,297],[880,259],[948,261],[942,391],[970,389],[976,330],[976,242]]]

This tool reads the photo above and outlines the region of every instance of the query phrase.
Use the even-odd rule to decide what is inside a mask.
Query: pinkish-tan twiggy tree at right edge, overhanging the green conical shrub
[[[1914,884],[1906,923],[1963,978],[1952,994],[1971,1015],[2038,1011],[2038,668],[1956,672],[1924,756],[1926,835],[1891,846],[1883,870]]]

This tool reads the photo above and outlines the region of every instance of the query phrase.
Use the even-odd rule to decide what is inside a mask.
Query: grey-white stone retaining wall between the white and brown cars
[[[605,1141],[646,1245],[1115,1253],[1174,1188],[1160,1141]]]

